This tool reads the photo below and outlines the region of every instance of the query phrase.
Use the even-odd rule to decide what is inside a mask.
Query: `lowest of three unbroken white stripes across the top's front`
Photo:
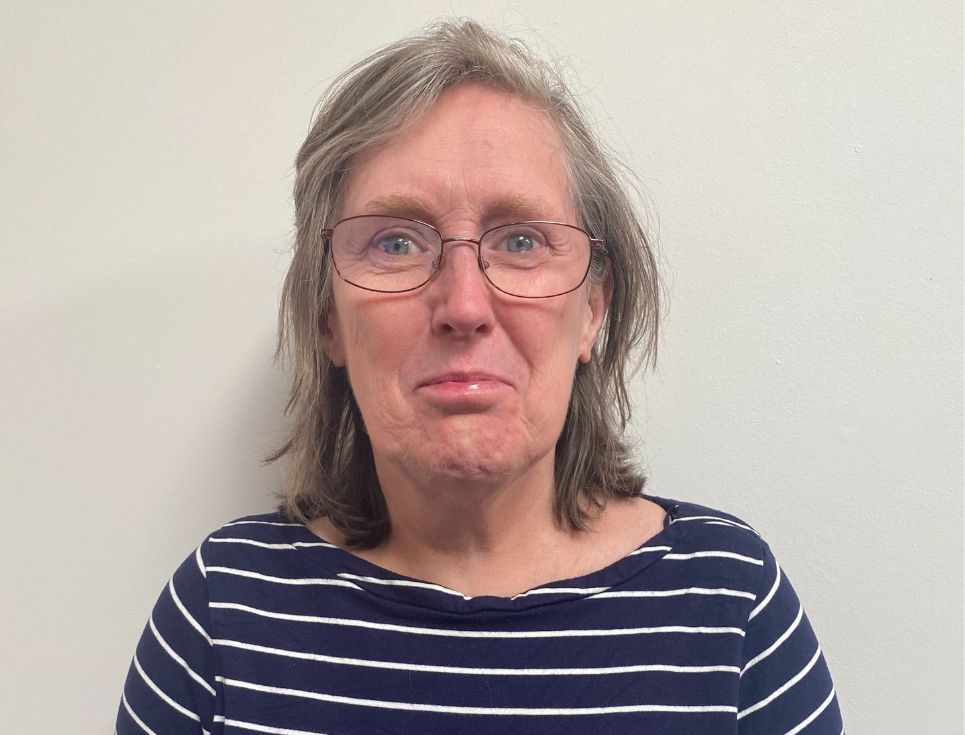
[[[342,697],[334,694],[321,694],[301,689],[265,686],[237,679],[225,679],[228,686],[250,689],[267,694],[284,694],[304,699],[314,699],[322,702],[336,702],[338,704],[352,704],[361,707],[376,707],[379,709],[407,710],[410,712],[441,712],[454,715],[532,715],[537,717],[559,715],[608,715],[626,712],[728,712],[737,711],[731,705],[672,705],[672,704],[627,704],[611,707],[461,707],[445,704],[423,704],[421,702],[392,702],[378,699],[360,699],[357,697]]]

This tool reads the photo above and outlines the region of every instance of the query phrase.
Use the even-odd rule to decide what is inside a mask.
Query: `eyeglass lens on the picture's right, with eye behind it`
[[[583,230],[552,222],[497,227],[481,243],[486,277],[500,291],[530,298],[572,291],[590,267],[590,238]]]

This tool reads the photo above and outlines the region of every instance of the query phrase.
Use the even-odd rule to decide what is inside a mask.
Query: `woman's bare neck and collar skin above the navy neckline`
[[[649,500],[611,500],[587,531],[553,517],[552,455],[510,481],[438,478],[415,483],[379,472],[391,530],[371,549],[346,547],[327,518],[310,527],[366,561],[414,579],[478,597],[513,595],[583,576],[621,559],[663,527]]]

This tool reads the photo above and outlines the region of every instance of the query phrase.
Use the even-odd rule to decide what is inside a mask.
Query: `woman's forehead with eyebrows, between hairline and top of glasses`
[[[366,213],[572,221],[559,133],[534,102],[480,84],[449,89],[353,162],[341,216]]]

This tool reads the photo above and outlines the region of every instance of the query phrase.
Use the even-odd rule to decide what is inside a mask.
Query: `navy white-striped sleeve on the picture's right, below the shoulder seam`
[[[744,639],[740,735],[842,735],[841,712],[821,646],[770,548]]]

